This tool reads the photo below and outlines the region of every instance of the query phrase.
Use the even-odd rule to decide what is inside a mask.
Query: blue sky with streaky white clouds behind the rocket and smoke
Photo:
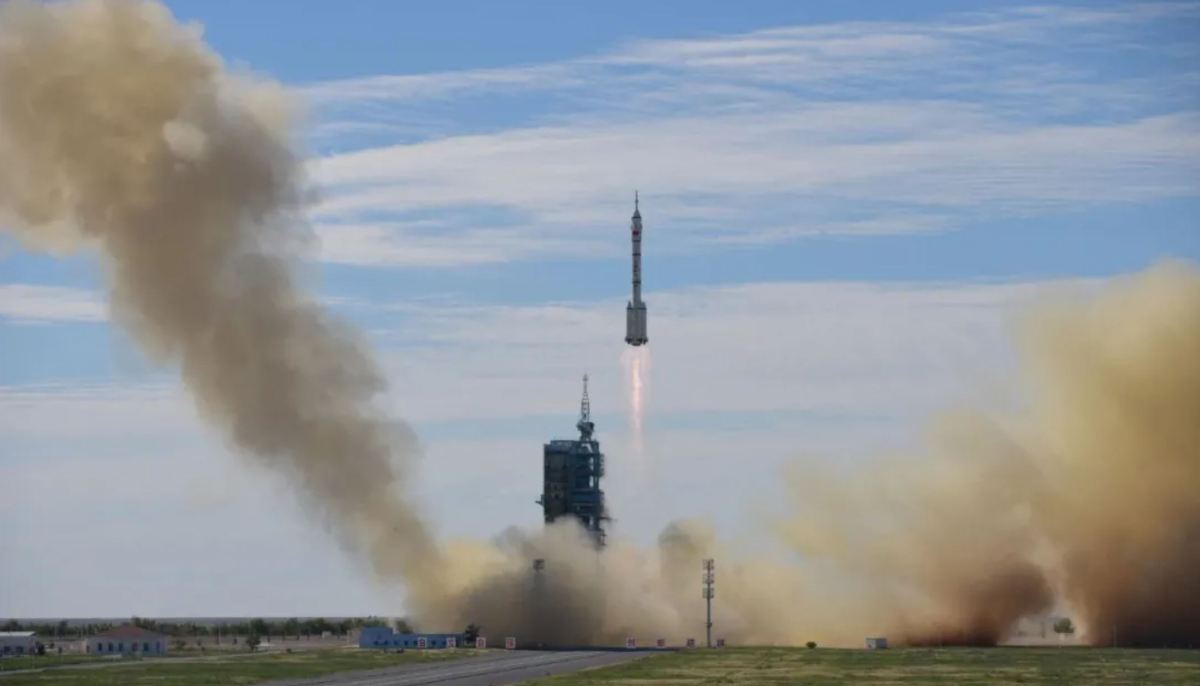
[[[902,450],[936,409],[1004,396],[1013,318],[1044,290],[1200,260],[1196,2],[168,5],[294,90],[318,194],[301,270],[367,331],[445,535],[536,525],[539,445],[570,432],[583,372],[624,465],[618,526],[647,524],[624,534],[707,514],[736,535],[790,457]],[[634,188],[654,355],[637,462]],[[103,290],[94,255],[0,237],[0,512],[127,519],[170,550],[154,578],[221,578],[214,549],[305,571],[262,597],[148,577],[44,604],[32,570],[126,538],[30,536],[0,559],[0,615],[398,610],[109,326]],[[106,476],[130,470],[145,480]]]

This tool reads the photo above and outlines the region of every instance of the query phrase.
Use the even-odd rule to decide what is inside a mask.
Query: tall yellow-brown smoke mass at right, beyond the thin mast
[[[1048,299],[1019,342],[1024,411],[948,414],[866,473],[797,467],[786,537],[911,642],[995,643],[1057,601],[1092,643],[1200,645],[1200,272]]]

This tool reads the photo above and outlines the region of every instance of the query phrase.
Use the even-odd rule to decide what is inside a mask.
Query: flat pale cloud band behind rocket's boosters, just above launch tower
[[[1046,288],[779,282],[658,291],[650,350],[670,354],[655,353],[652,411],[916,417],[980,375],[1007,374],[1012,319]],[[394,336],[385,312],[374,319],[397,407],[424,423],[554,414],[564,384],[570,391],[583,372],[595,380],[596,407],[622,411],[623,315],[619,301],[406,303]]]

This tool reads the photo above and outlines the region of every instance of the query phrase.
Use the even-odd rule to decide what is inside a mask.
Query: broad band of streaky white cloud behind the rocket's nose
[[[616,254],[634,187],[671,237],[662,249],[683,251],[1192,197],[1200,97],[1163,84],[1196,79],[1195,47],[1169,30],[1196,8],[779,26],[312,84],[304,94],[332,146],[311,164],[319,257],[455,266]],[[1100,68],[1133,53],[1158,66]],[[505,115],[476,116],[490,108]],[[421,132],[420,120],[436,124]],[[347,134],[355,126],[362,136]],[[414,233],[414,221],[437,230]]]

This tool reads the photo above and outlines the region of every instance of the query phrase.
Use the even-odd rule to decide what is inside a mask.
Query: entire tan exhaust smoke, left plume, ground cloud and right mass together
[[[286,475],[428,628],[523,642],[991,644],[1078,613],[1094,643],[1200,644],[1200,273],[1057,296],[1019,342],[1027,405],[937,419],[922,455],[798,461],[773,556],[701,522],[598,553],[570,524],[433,541],[410,432],[364,342],[298,288],[305,179],[281,89],[227,72],[149,1],[0,6],[0,225],[96,247],[114,318],[236,449]],[[534,559],[545,560],[541,572]]]

